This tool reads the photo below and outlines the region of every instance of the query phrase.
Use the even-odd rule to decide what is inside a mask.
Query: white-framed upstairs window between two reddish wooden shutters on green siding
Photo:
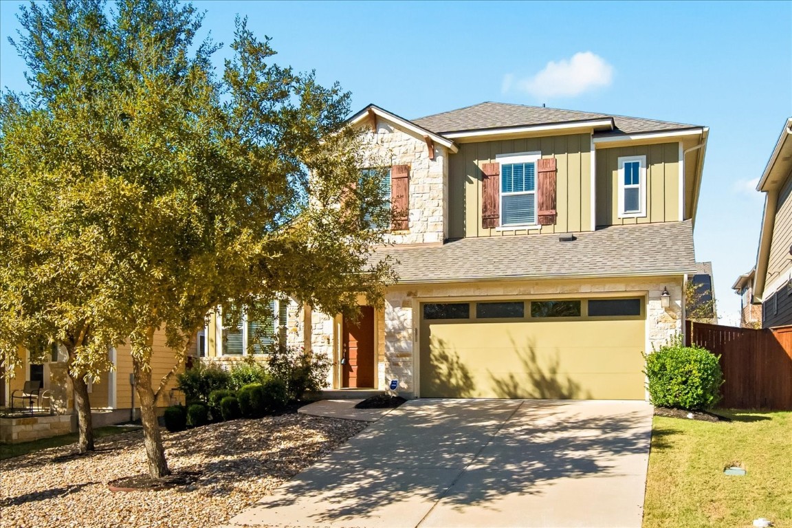
[[[498,157],[501,163],[501,226],[536,224],[536,161],[539,154]]]

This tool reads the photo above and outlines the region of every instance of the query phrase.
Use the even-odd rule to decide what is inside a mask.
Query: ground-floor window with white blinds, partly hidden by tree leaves
[[[284,344],[286,337],[287,300],[272,301],[270,315],[252,319],[246,313],[234,327],[223,317],[222,355],[266,354],[275,344]]]

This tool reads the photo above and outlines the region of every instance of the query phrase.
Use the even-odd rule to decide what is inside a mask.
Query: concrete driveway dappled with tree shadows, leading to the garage
[[[409,401],[228,526],[640,528],[642,401]]]

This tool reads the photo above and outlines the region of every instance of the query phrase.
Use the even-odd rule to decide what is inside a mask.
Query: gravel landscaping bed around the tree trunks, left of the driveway
[[[0,462],[0,526],[210,528],[268,495],[366,427],[299,414],[234,420],[180,433],[163,429],[169,468],[196,472],[161,491],[111,492],[109,481],[146,473],[143,433],[97,441],[97,451],[63,456],[55,447]]]

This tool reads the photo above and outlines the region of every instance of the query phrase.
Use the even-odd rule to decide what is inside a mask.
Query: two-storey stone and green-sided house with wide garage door
[[[684,328],[706,127],[498,103],[349,123],[407,211],[373,257],[398,283],[357,322],[284,302],[273,334],[328,355],[332,389],[645,399],[642,353]],[[244,357],[218,319],[208,356]]]

